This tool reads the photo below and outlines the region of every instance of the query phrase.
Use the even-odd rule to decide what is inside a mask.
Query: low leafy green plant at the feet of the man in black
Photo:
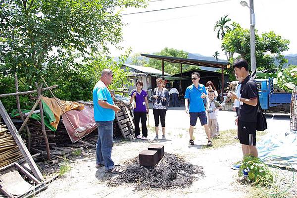
[[[248,170],[247,180],[255,186],[269,186],[274,181],[274,176],[258,157],[246,155],[238,172],[243,176],[243,170]]]

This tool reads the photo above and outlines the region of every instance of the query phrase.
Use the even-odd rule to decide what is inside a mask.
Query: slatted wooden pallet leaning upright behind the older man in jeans
[[[118,106],[121,108],[121,110],[115,114],[115,119],[123,137],[132,140],[135,137],[135,134],[131,105],[129,105],[129,107],[125,105]]]

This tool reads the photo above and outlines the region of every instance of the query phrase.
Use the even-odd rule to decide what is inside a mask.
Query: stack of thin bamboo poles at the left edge
[[[23,155],[3,122],[0,122],[0,168],[6,166]]]

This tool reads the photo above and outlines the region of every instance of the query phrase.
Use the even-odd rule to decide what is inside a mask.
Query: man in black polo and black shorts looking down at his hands
[[[228,93],[232,99],[237,99],[240,102],[238,117],[236,119],[238,139],[242,144],[244,156],[250,154],[258,157],[256,148],[257,83],[248,73],[246,60],[236,60],[234,62],[234,71],[238,78],[242,77],[244,79],[240,89],[241,97],[238,98],[233,92]]]

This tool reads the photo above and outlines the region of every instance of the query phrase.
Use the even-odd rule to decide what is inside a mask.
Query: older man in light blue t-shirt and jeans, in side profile
[[[123,170],[114,166],[111,159],[113,145],[113,120],[120,108],[114,105],[108,85],[112,81],[112,71],[103,69],[101,77],[93,90],[94,117],[98,126],[96,144],[96,167],[105,166],[106,173],[120,173]]]

